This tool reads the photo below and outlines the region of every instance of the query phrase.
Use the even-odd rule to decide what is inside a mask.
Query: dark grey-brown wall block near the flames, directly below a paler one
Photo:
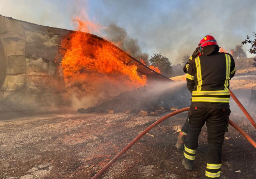
[[[45,45],[30,42],[26,44],[26,57],[44,58],[51,61],[61,62],[62,57],[58,46],[47,47]]]

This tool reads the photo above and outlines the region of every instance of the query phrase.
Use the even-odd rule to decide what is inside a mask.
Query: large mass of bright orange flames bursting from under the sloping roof
[[[146,76],[137,74],[137,66],[126,65],[119,56],[120,52],[113,48],[112,44],[81,32],[81,30],[89,30],[88,25],[93,30],[98,30],[99,26],[80,19],[76,21],[78,31],[71,38],[70,48],[67,49],[62,62],[65,77],[97,72],[107,76],[127,77],[126,84],[135,87],[146,84]]]

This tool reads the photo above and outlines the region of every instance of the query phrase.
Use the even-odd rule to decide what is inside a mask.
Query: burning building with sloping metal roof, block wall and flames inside
[[[122,80],[113,95],[154,80],[170,81],[96,35],[4,16],[0,22],[0,98],[5,104],[65,104],[68,90],[93,91],[84,81],[102,76],[111,82],[118,76],[119,85]]]

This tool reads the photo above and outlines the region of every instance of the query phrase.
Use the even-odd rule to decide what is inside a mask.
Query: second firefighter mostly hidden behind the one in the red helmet
[[[188,72],[189,65],[191,64],[192,60],[194,58],[196,58],[198,55],[200,55],[200,53],[198,51],[198,47],[196,47],[195,51],[190,56],[188,62],[183,67],[184,73]],[[184,142],[186,140],[188,130],[189,130],[189,123],[188,123],[188,118],[187,118],[184,125],[182,126],[181,130],[179,131],[180,133],[179,133],[179,136],[178,136],[178,140],[177,140],[177,143],[175,144],[175,147],[177,149],[184,149]]]

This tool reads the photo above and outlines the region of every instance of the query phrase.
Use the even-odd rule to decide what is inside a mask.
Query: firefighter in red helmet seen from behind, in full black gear
[[[194,58],[187,72],[187,87],[192,93],[188,112],[189,130],[184,143],[182,164],[192,170],[198,136],[206,122],[208,148],[206,178],[219,178],[221,150],[229,120],[229,80],[235,74],[232,55],[219,53],[217,41],[206,35],[199,43],[200,56]]]

